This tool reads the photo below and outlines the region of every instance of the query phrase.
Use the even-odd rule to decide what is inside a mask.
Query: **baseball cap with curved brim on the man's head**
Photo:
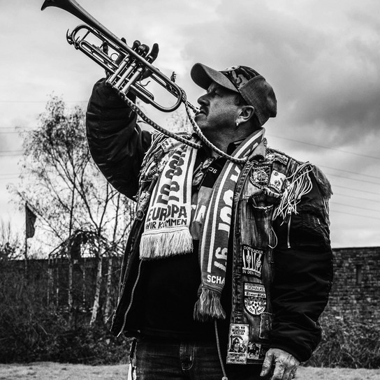
[[[277,115],[277,100],[272,86],[253,68],[232,66],[217,71],[198,63],[191,68],[190,75],[193,82],[203,89],[217,82],[226,89],[238,92],[248,105],[254,106],[260,125]]]

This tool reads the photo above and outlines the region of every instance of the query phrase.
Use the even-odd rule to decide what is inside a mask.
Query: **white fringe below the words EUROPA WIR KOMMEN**
[[[189,228],[175,231],[161,228],[158,231],[143,233],[140,242],[140,258],[162,258],[193,251],[193,238]]]

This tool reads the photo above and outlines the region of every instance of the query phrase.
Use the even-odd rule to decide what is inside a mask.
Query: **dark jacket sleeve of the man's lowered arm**
[[[333,282],[333,252],[327,202],[330,184],[316,168],[312,189],[302,196],[290,221],[277,223],[273,251],[271,346],[308,360],[321,341],[319,316]]]

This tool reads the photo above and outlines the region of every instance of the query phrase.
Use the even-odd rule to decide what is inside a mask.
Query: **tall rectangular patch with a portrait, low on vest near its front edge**
[[[227,363],[246,364],[249,326],[235,323],[230,326],[228,341]]]

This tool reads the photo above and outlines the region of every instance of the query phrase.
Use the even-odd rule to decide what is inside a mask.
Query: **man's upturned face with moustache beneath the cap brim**
[[[198,98],[200,112],[196,123],[202,131],[233,129],[238,116],[236,93],[212,82],[207,93]]]

